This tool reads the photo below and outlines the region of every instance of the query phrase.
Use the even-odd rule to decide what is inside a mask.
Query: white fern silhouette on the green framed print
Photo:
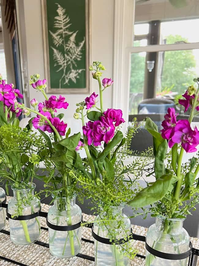
[[[54,17],[54,28],[56,32],[49,33],[52,37],[52,41],[55,47],[53,50],[54,67],[58,67],[56,72],[62,71],[63,74],[59,80],[59,88],[61,88],[62,80],[64,79],[64,84],[69,85],[69,82],[77,82],[80,78],[80,73],[85,69],[77,69],[77,61],[82,58],[82,50],[85,43],[84,39],[76,44],[76,35],[78,31],[73,32],[69,30],[71,23],[69,23],[69,16],[66,14],[66,9],[55,3],[58,6],[57,13],[58,16]],[[60,50],[61,48],[61,50]],[[62,49],[64,48],[64,53]],[[73,69],[73,67],[75,69]]]

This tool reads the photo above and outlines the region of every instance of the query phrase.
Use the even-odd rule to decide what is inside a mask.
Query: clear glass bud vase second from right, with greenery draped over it
[[[125,238],[131,232],[130,219],[123,214],[124,206],[111,207],[111,218],[106,213],[99,214],[94,222],[93,231],[103,238]],[[110,220],[110,221],[109,221]],[[108,222],[107,222],[108,221]],[[125,245],[109,245],[94,240],[95,243],[95,264],[97,266],[128,266],[129,258],[123,251]]]

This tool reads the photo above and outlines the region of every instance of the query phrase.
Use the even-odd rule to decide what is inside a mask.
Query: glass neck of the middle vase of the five
[[[59,211],[71,210],[75,205],[76,195],[73,197],[56,197],[54,199],[54,207]]]

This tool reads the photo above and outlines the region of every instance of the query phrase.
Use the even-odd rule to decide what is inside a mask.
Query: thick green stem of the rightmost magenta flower
[[[197,92],[195,94],[195,98],[193,101],[193,106],[191,109],[191,114],[189,117],[189,122],[191,124],[193,117],[194,117],[194,111],[197,105],[197,99],[198,99],[198,94],[199,94],[199,86],[197,89]],[[183,157],[183,153],[184,153],[184,149],[181,147],[180,150],[180,154],[179,154],[179,158],[178,158],[178,168],[177,168],[177,177],[179,178],[176,188],[175,188],[175,192],[174,192],[174,198],[177,200],[177,203],[179,202],[179,196],[180,196],[180,190],[181,190],[181,186],[182,186],[182,182],[183,182],[183,177],[181,176],[181,166],[182,166],[182,157]]]

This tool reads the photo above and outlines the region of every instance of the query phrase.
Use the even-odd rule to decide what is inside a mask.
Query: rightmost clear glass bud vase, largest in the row
[[[156,218],[156,223],[148,228],[146,243],[163,253],[180,254],[189,250],[190,236],[183,228],[185,219]],[[146,252],[146,266],[186,266],[189,258],[167,260]]]

